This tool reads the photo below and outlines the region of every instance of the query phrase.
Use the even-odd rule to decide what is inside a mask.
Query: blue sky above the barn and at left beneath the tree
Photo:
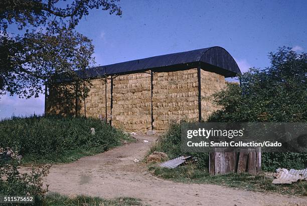
[[[225,48],[241,71],[265,68],[280,46],[307,50],[304,1],[122,1],[122,17],[93,10],[77,31],[93,40],[97,65]],[[9,31],[10,32],[10,31]],[[14,32],[14,31],[12,31]],[[0,118],[44,112],[44,96],[0,99]]]

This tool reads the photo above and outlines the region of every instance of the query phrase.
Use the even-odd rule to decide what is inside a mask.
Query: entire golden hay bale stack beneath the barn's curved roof
[[[151,129],[150,70],[113,77],[112,117],[110,117],[110,77],[107,79],[107,107],[105,106],[105,79],[93,79],[91,84],[90,92],[85,99],[85,109],[84,100],[78,103],[80,115],[105,118],[105,110],[107,110],[107,121],[109,122],[112,118],[112,125],[115,127],[138,133],[146,133]],[[197,69],[157,72],[153,75],[152,84],[153,126],[157,133],[166,131],[172,122],[198,120]],[[224,76],[201,70],[201,107],[204,120],[219,108],[212,102],[211,95],[223,89],[224,86]],[[47,109],[48,113],[51,111],[63,114],[63,111],[54,105]]]

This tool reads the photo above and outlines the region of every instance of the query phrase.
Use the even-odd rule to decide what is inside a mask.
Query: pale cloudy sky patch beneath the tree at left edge
[[[20,99],[17,96],[4,95],[0,97],[0,119],[16,116],[29,116],[44,113],[45,96]]]

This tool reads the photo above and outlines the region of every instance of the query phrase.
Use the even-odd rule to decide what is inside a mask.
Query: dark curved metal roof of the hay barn
[[[241,74],[237,63],[225,49],[209,47],[93,67],[86,69],[85,76],[95,78],[103,75],[138,73],[146,70],[169,72],[197,68],[198,66],[205,71],[215,72],[225,77],[234,77]]]

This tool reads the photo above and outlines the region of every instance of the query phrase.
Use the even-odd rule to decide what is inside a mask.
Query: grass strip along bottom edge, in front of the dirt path
[[[86,195],[78,195],[76,197],[69,197],[59,193],[49,192],[45,198],[46,206],[62,206],[62,205],[142,205],[140,199],[133,197],[117,197],[114,199],[104,199],[101,197],[92,197]]]

